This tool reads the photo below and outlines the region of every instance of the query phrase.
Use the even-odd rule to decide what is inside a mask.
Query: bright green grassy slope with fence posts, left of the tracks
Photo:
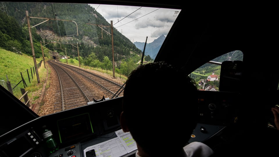
[[[42,60],[43,58],[36,58],[36,64],[39,64]],[[27,69],[29,73],[30,82],[27,74]],[[42,62],[41,67],[38,68],[39,80],[37,80],[37,76],[34,74],[33,71],[31,74],[31,69],[35,70],[34,60],[32,56],[28,56],[26,54],[20,55],[0,48],[1,85],[6,87],[6,81],[10,81],[12,88],[14,88],[15,85],[17,85],[22,80],[22,74],[22,76],[24,77],[24,81],[27,84],[25,90],[28,91],[29,99],[33,100],[39,97],[39,95],[35,95],[32,97],[32,94],[34,92],[40,93],[38,91],[42,89],[42,83],[44,82],[47,76],[47,69],[44,68],[44,62]],[[22,96],[20,88],[24,88],[22,82],[19,83],[15,89],[13,89],[13,94],[17,98],[20,98]]]

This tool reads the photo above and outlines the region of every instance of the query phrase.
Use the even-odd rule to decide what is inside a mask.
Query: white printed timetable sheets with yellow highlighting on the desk
[[[137,144],[130,132],[124,133],[122,129],[115,132],[117,137],[101,142],[83,150],[86,157],[86,152],[94,149],[96,157],[119,157],[134,150],[137,150]]]

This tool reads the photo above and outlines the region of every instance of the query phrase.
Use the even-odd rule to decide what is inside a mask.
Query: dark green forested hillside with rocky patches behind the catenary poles
[[[97,63],[102,63],[104,58],[112,61],[112,36],[104,33],[104,31],[102,32],[102,29],[98,26],[90,25],[111,26],[111,24],[89,4],[5,3],[7,14],[5,12],[0,13],[0,47],[9,51],[32,55],[26,20],[27,10],[30,17],[45,18],[29,18],[31,27],[35,26],[32,28],[32,38],[36,58],[42,57],[40,44],[40,41],[42,41],[42,45],[46,49],[44,52],[46,56],[49,51],[56,51],[60,55],[65,55],[65,49],[67,49],[67,56],[70,58],[76,58],[79,53],[84,65],[102,67],[101,64]],[[53,20],[47,20],[47,18]],[[104,29],[111,33],[111,28],[104,27]],[[42,35],[44,31],[53,32],[57,39],[53,40],[53,36],[48,34]],[[39,33],[44,37],[42,38]],[[78,46],[79,52],[77,48],[73,47],[73,44],[76,44],[75,47]],[[115,28],[113,28],[113,45],[116,68],[121,69],[121,63],[127,65],[132,62],[137,63],[140,60],[142,51]],[[92,58],[92,56],[95,58]],[[131,69],[134,67],[133,65]],[[111,69],[112,65],[104,68]],[[123,74],[128,75],[129,72],[123,72]]]

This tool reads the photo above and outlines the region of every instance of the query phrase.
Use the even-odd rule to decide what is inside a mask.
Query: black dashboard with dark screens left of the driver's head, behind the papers
[[[0,156],[50,156],[42,137],[42,126],[52,131],[59,148],[68,148],[120,129],[122,99],[114,98],[79,108],[38,117],[0,136]],[[106,139],[107,140],[107,139]],[[35,154],[34,154],[35,153]],[[66,153],[67,154],[67,153]]]

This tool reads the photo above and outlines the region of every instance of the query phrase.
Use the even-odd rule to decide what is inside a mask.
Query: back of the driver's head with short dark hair
[[[196,91],[188,76],[164,62],[131,72],[122,108],[131,135],[146,153],[158,154],[161,144],[171,152],[187,144],[198,118]]]

